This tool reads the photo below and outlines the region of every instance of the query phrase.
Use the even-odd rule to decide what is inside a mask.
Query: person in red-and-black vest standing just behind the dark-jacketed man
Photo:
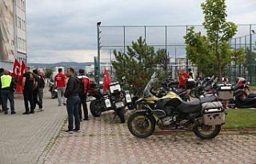
[[[82,109],[83,109],[83,114],[84,114],[83,120],[89,120],[86,96],[87,96],[87,92],[90,89],[91,80],[89,79],[89,77],[85,75],[84,69],[79,69],[78,72],[79,72],[78,79],[80,80],[79,98],[81,100],[78,106],[78,113],[79,113],[80,121],[82,121]]]

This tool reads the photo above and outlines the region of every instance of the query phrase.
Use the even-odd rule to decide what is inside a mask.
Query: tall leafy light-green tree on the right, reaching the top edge
[[[191,62],[198,64],[205,74],[218,74],[222,80],[222,70],[231,61],[243,63],[246,54],[243,49],[231,49],[230,38],[237,32],[237,25],[226,21],[225,0],[206,0],[202,3],[206,36],[201,32],[195,33],[194,27],[186,34],[186,54]]]

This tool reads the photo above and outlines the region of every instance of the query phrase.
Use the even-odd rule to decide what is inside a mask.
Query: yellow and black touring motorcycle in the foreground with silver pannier
[[[160,129],[194,131],[200,139],[213,139],[225,123],[222,103],[216,97],[206,97],[194,102],[184,102],[174,92],[158,98],[152,92],[157,81],[156,73],[143,91],[140,109],[128,119],[128,128],[132,135],[146,138],[154,133],[155,126]]]

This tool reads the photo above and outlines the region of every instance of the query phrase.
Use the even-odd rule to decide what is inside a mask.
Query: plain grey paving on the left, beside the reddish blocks
[[[0,113],[1,164],[42,163],[66,119],[66,107],[58,107],[57,100],[51,100],[48,91],[45,92],[45,111],[22,115],[25,107],[22,95],[18,95],[15,96],[17,114]]]

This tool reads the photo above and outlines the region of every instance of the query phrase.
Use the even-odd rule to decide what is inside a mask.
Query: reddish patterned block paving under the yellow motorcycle
[[[186,133],[177,141],[174,135],[137,139],[118,119],[111,123],[112,116],[107,112],[83,121],[81,133],[65,134],[65,125],[44,163],[256,163],[255,135],[202,141]]]

